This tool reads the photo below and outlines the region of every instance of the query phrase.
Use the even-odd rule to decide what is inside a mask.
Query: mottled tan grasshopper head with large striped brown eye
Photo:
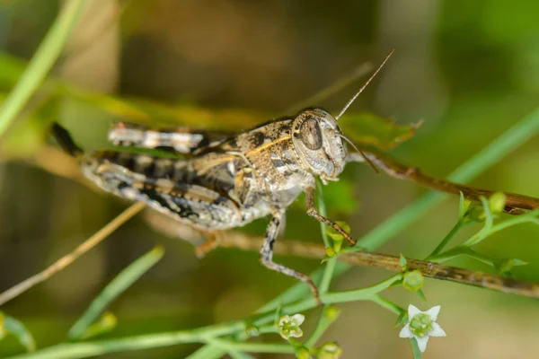
[[[304,109],[294,119],[292,143],[306,169],[323,181],[338,180],[346,163],[337,120],[323,109]]]

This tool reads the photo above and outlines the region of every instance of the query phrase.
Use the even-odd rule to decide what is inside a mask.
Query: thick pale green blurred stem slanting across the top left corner
[[[71,34],[80,13],[88,0],[70,0],[66,2],[57,19],[52,24],[45,39],[40,44],[28,67],[0,109],[0,136],[22,111],[24,105],[36,92],[57,57],[61,54],[66,40]]]

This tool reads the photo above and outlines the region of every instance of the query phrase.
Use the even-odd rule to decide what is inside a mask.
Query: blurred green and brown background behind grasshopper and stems
[[[7,65],[12,64],[7,58],[13,58],[5,55],[28,60],[59,6],[61,2],[51,0],[0,1],[0,100],[17,78],[17,66]],[[105,145],[111,121],[142,121],[121,102],[105,101],[96,93],[166,104],[178,109],[179,118],[189,117],[189,110],[199,115],[233,109],[239,114],[234,129],[249,127],[282,115],[357,66],[377,65],[395,48],[350,112],[370,111],[402,125],[423,119],[416,136],[392,153],[443,177],[539,104],[538,16],[539,3],[532,0],[90,1],[54,68],[55,80],[46,83],[0,142],[0,291],[74,249],[127,206],[35,164],[72,171],[43,150],[51,120],[63,123],[88,149]],[[313,105],[337,112],[361,82]],[[211,125],[209,118],[200,123]],[[155,122],[143,119],[154,124],[173,121],[157,115]],[[199,118],[188,121],[197,123]],[[539,197],[538,162],[535,138],[473,184]],[[328,211],[331,218],[351,223],[355,237],[424,192],[376,176],[361,164],[349,165],[343,180],[351,186],[327,190]],[[342,194],[347,189],[351,195]],[[299,205],[288,213],[286,237],[321,242],[318,223]],[[380,251],[424,257],[456,217],[453,198]],[[245,230],[260,235],[266,223],[257,221]],[[477,229],[467,229],[459,238]],[[252,252],[216,250],[198,260],[189,243],[163,237],[137,217],[2,309],[22,320],[40,347],[60,342],[103,285],[155,243],[166,250],[163,260],[113,303],[110,310],[119,318],[118,327],[103,337],[243,319],[295,283],[261,267]],[[539,281],[538,228],[521,225],[501,232],[479,250],[496,258],[526,260],[530,264],[517,267],[515,276]],[[278,260],[303,272],[319,267],[315,260]],[[491,271],[474,261],[452,264]],[[358,267],[334,287],[358,288],[384,276],[388,273]],[[423,310],[442,305],[438,321],[448,337],[431,341],[429,357],[539,355],[536,301],[433,280],[425,287],[427,303],[402,289],[393,292],[390,297],[404,307],[409,302]],[[370,302],[341,307],[344,315],[324,338],[337,340],[345,358],[411,357],[408,342],[393,329],[393,314]],[[307,324],[314,319],[307,315]],[[107,357],[184,357],[196,347]],[[1,355],[19,350],[13,338],[0,342]]]

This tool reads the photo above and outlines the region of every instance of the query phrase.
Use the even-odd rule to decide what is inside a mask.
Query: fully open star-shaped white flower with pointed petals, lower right
[[[446,337],[444,329],[436,323],[440,306],[432,307],[429,311],[420,311],[413,305],[408,306],[408,323],[402,328],[399,337],[415,337],[420,351],[427,349],[429,337]]]

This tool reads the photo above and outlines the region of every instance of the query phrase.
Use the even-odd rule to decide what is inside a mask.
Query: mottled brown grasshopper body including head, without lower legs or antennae
[[[119,136],[118,127],[110,132],[133,144],[128,140],[133,129],[127,138]],[[315,176],[337,180],[346,158],[337,134],[340,128],[329,113],[305,109],[296,118],[195,147],[190,158],[103,152],[87,156],[83,168],[107,191],[143,200],[201,229],[223,230],[286,208],[301,192],[314,189]],[[197,202],[209,217],[192,210]]]

